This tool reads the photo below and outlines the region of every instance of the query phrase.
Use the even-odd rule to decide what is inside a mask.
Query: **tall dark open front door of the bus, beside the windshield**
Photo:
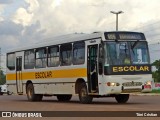
[[[87,77],[88,77],[88,89],[90,93],[98,92],[98,69],[97,69],[97,57],[98,57],[98,44],[88,46],[87,55]]]

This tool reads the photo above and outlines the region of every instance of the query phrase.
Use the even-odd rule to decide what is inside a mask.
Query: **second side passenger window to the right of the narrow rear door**
[[[46,48],[36,49],[36,68],[46,67]]]

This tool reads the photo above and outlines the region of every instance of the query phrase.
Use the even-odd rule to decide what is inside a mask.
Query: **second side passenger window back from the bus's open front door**
[[[63,44],[60,47],[61,65],[71,65],[72,63],[72,44]]]

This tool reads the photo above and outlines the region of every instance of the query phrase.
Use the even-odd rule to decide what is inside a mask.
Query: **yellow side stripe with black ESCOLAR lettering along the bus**
[[[19,74],[17,74],[17,77]],[[16,73],[7,74],[7,80],[16,80]],[[37,80],[37,79],[48,79],[48,78],[76,78],[76,77],[87,77],[86,68],[78,69],[67,69],[67,70],[48,70],[38,72],[22,72],[22,80]]]

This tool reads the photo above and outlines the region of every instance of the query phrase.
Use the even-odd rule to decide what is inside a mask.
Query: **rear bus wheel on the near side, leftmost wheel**
[[[34,86],[32,83],[27,86],[27,97],[29,101],[41,101],[43,95],[34,93]]]

